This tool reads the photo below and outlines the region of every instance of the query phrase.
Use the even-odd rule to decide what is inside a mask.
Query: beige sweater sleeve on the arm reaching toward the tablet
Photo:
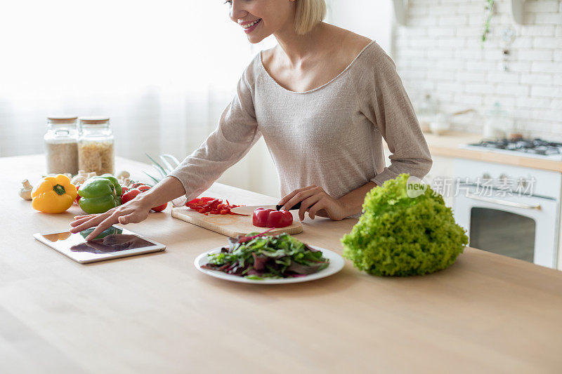
[[[254,101],[244,72],[237,93],[221,115],[218,127],[169,175],[181,182],[185,197],[193,199],[240,161],[260,137]]]

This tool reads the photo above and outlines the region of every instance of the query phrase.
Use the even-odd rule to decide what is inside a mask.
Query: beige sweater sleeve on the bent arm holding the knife
[[[372,66],[365,66],[354,79],[360,111],[377,126],[391,151],[391,166],[372,182],[381,185],[401,173],[423,178],[432,164],[429,148],[396,65],[380,46],[374,47],[368,59]]]

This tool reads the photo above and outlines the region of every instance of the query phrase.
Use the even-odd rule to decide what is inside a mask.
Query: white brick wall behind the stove
[[[393,58],[414,105],[431,93],[443,112],[498,101],[525,135],[562,140],[562,0],[525,1],[516,25],[509,0],[496,0],[488,40],[481,43],[483,0],[410,0],[396,29]],[[502,31],[512,27],[509,71],[502,69]],[[481,123],[454,123],[481,131]]]

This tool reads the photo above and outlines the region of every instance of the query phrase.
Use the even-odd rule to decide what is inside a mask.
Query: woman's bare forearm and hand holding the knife
[[[283,205],[281,209],[287,209],[301,201],[301,208],[299,209],[301,221],[304,220],[304,214],[307,211],[311,219],[318,215],[339,221],[350,215],[361,213],[365,195],[374,187],[377,187],[374,182],[367,182],[365,185],[341,196],[341,198],[334,199],[322,187],[313,185],[296,189],[283,197],[277,205]]]

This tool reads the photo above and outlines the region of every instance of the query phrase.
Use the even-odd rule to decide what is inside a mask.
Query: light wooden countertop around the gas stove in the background
[[[433,135],[431,133],[424,135],[431,155],[433,156],[504,163],[507,165],[524,166],[526,168],[536,168],[562,173],[562,161],[536,159],[532,157],[497,152],[485,152],[476,149],[464,149],[459,147],[460,145],[479,142],[482,140],[482,135],[480,134],[451,132],[440,136]]]

